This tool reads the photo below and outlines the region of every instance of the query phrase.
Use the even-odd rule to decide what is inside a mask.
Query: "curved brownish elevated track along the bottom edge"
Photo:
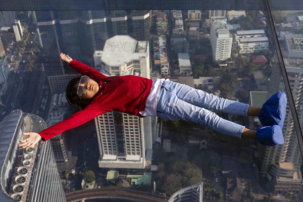
[[[127,199],[132,201],[144,201],[144,202],[164,202],[167,199],[161,195],[150,194],[143,191],[136,190],[123,190],[123,189],[88,189],[71,192],[65,195],[68,202],[81,201],[82,199],[93,199],[93,198],[119,198]]]

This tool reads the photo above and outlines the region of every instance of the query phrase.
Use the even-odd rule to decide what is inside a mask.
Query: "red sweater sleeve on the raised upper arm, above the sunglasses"
[[[97,78],[97,77],[102,77],[102,78],[106,78],[107,76],[105,76],[104,74],[98,72],[97,70],[93,69],[92,67],[89,67],[77,60],[72,60],[72,62],[70,62],[69,64],[71,66],[71,68],[73,68],[74,70],[76,70],[77,72],[79,72],[82,75],[86,75],[89,76],[90,78]]]

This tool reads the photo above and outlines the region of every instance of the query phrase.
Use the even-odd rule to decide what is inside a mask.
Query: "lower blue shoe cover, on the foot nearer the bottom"
[[[266,146],[284,144],[282,129],[278,125],[259,127],[256,138],[261,144]]]

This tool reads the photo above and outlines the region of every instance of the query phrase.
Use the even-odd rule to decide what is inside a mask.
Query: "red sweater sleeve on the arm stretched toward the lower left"
[[[100,111],[98,106],[94,104],[89,104],[84,110],[76,112],[69,118],[49,127],[45,130],[39,132],[39,135],[42,137],[43,141],[51,139],[56,135],[63,133],[66,130],[76,128],[89,120],[95,118],[96,116],[102,115],[106,113],[106,111]]]

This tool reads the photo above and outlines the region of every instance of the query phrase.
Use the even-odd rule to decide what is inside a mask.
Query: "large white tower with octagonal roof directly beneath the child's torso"
[[[137,75],[150,78],[148,41],[117,35],[94,53],[96,67],[109,75]],[[151,117],[139,118],[108,112],[95,118],[100,149],[99,167],[144,169],[152,156]]]

